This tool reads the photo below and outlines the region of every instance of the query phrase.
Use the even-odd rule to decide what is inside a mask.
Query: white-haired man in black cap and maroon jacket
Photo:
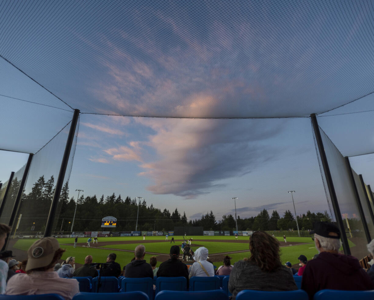
[[[327,222],[316,222],[314,242],[319,255],[305,267],[301,289],[313,299],[319,290],[362,291],[374,288],[370,277],[360,266],[358,259],[338,253],[340,230]]]

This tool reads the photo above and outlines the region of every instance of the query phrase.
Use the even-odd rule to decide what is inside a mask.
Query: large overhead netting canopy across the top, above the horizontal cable
[[[370,0],[5,0],[0,55],[82,112],[309,116],[374,91],[373,12]]]

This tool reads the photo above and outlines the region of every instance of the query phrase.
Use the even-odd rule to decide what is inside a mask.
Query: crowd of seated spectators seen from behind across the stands
[[[0,224],[0,246],[3,247],[10,228]],[[340,231],[327,222],[317,222],[310,232],[313,234],[318,255],[312,260],[301,254],[298,257],[300,268],[292,267],[290,262],[282,265],[279,242],[263,231],[256,231],[249,238],[249,258],[237,261],[231,265],[231,257],[225,256],[223,265],[214,271],[213,263],[209,260],[208,249],[199,247],[193,255],[193,264],[188,268],[180,259],[181,250],[173,245],[169,251],[169,259],[159,267],[155,256],[147,263],[144,245],[135,248],[135,257],[121,273],[121,267],[116,262],[116,254],[110,253],[105,263],[96,264],[91,255],[86,256],[84,265],[75,269],[75,257],[69,256],[62,264],[64,249],[60,248],[57,239],[41,238],[28,249],[28,259],[18,262],[12,251],[0,252],[0,293],[9,295],[31,295],[56,293],[70,300],[79,292],[76,279],[66,277],[91,276],[120,276],[129,278],[154,278],[183,276],[188,281],[193,276],[211,277],[228,275],[229,291],[235,300],[237,293],[242,290],[261,291],[292,291],[297,290],[293,275],[302,276],[301,289],[307,292],[309,299],[323,289],[333,290],[372,290],[374,289],[374,263],[371,268],[364,270],[358,260],[349,255],[339,253]],[[188,247],[183,244],[184,250]],[[189,247],[188,247],[189,248]],[[374,256],[374,240],[368,244],[368,250]],[[188,250],[188,253],[189,250]],[[183,252],[186,254],[186,252]],[[188,286],[188,285],[187,285]]]

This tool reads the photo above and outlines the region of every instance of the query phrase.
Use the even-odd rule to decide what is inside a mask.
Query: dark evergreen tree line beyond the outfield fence
[[[14,202],[12,199],[15,199],[19,184],[20,182],[16,178],[13,179],[10,197],[7,198],[2,220],[11,212]],[[22,214],[18,231],[28,232],[31,226],[35,226],[34,231],[36,232],[44,231],[54,190],[54,177],[51,176],[49,180],[45,181],[44,176],[41,176],[34,183],[31,192],[23,194],[17,214],[17,217],[19,213]],[[82,194],[76,202],[74,197],[69,198],[69,186],[66,182],[59,197],[53,225],[54,231],[70,232],[75,209],[73,231],[134,231],[138,210],[138,231],[172,231],[174,226],[202,226],[203,230],[215,231],[236,230],[236,222],[232,214],[224,215],[222,219],[217,220],[213,212],[210,211],[200,219],[187,220],[186,213],[181,214],[178,208],[172,212],[167,208],[160,210],[153,207],[153,204],[147,205],[145,200],[139,204],[136,198],[131,199],[127,196],[123,199],[121,195],[116,196],[114,193],[107,197],[101,195],[99,198],[96,195],[85,196]],[[101,228],[101,219],[106,216],[117,218],[116,228]],[[353,224],[357,222],[357,219],[349,220]],[[314,222],[331,221],[331,217],[327,211],[324,213],[307,211],[306,214],[297,216],[297,221],[300,230],[308,230],[313,228]],[[286,210],[282,217],[276,210],[273,210],[270,216],[266,209],[263,209],[256,217],[242,219],[237,216],[237,226],[239,231],[297,230],[296,219],[290,210]]]

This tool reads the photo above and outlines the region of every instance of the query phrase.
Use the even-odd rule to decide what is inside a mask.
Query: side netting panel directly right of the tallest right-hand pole
[[[353,243],[350,251],[353,256],[362,259],[367,256],[367,239],[353,190],[354,183],[350,180],[343,155],[322,129],[320,132],[347,238]]]

